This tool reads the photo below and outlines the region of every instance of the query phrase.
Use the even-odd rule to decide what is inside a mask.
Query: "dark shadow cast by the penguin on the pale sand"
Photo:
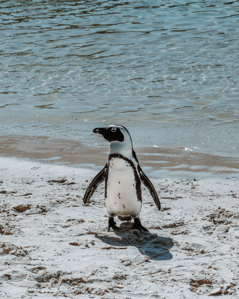
[[[172,238],[133,229],[132,222],[123,222],[119,227],[121,230],[115,231],[115,236],[95,237],[111,246],[134,246],[151,260],[171,260],[172,254],[169,250],[174,245]]]

